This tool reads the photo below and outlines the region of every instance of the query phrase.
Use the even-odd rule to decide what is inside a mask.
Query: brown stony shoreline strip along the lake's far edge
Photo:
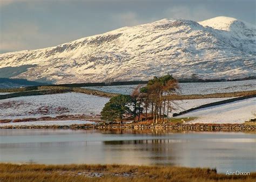
[[[133,130],[177,130],[177,131],[251,131],[255,132],[253,124],[71,124],[71,125],[3,125],[0,129],[133,129]]]

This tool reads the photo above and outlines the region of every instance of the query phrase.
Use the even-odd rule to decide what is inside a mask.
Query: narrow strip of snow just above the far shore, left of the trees
[[[91,121],[80,121],[80,120],[67,120],[67,121],[32,121],[32,122],[17,122],[17,123],[0,123],[0,127],[4,126],[42,126],[42,125],[72,125],[72,124],[95,124]]]

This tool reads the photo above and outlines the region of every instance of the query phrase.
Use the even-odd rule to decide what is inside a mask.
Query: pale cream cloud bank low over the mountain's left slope
[[[31,22],[12,22],[1,27],[0,53],[56,46],[78,38],[76,33],[45,32]]]

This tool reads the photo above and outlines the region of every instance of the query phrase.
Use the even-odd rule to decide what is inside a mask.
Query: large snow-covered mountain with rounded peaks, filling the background
[[[148,80],[167,73],[244,78],[255,76],[255,34],[255,25],[230,17],[198,23],[161,19],[55,47],[0,54],[0,72],[15,67],[11,78],[55,83]]]

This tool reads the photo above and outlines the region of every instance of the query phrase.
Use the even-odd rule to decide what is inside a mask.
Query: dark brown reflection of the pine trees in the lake
[[[172,139],[140,139],[130,141],[104,141],[111,153],[127,157],[142,164],[177,165],[176,143]]]

